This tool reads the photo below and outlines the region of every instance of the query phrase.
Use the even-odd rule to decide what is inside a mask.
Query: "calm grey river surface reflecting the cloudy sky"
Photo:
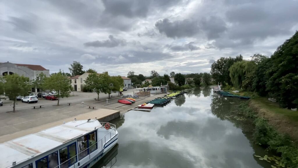
[[[111,121],[119,146],[93,168],[269,168],[254,157],[267,153],[252,143],[250,121],[235,111],[240,101],[195,88],[151,112],[127,112]]]

